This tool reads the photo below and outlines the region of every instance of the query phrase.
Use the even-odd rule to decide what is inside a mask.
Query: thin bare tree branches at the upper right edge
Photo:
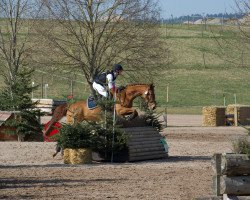
[[[218,33],[216,26],[210,26],[217,48],[213,54],[229,66],[250,67],[250,0],[235,0],[235,12],[244,15],[242,19],[229,19],[225,31]],[[214,29],[214,30],[213,30]]]

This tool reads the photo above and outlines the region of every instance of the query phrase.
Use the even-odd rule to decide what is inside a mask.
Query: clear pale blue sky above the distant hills
[[[235,13],[235,0],[159,0],[162,18],[191,14]]]

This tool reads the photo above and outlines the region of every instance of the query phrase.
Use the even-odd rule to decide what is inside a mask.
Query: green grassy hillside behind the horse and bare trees
[[[159,107],[167,106],[172,113],[197,114],[202,106],[223,105],[224,97],[226,105],[235,101],[250,104],[249,44],[235,37],[237,27],[208,26],[205,30],[201,25],[162,25],[160,29],[173,62],[154,82]],[[90,94],[81,76],[69,79],[38,71],[33,80],[41,84],[42,79],[49,85],[43,91],[47,98],[65,99],[72,84],[77,99]],[[40,87],[33,96],[41,95]]]

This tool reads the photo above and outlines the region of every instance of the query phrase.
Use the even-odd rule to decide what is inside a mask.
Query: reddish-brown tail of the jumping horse
[[[68,107],[68,104],[64,103],[64,104],[61,104],[55,108],[53,115],[52,115],[52,118],[49,122],[48,128],[43,133],[44,136],[47,136],[51,132],[51,130],[56,122],[58,122],[60,119],[62,119],[64,116],[66,116],[67,107]]]

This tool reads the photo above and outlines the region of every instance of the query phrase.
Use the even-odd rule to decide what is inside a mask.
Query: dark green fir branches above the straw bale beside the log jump
[[[62,124],[60,134],[54,136],[57,146],[65,149],[90,148],[99,153],[100,157],[109,160],[111,154],[117,158],[121,155],[128,156],[127,137],[119,129],[106,124],[97,124],[96,122],[81,122],[74,125]],[[114,161],[126,161],[115,159]]]

